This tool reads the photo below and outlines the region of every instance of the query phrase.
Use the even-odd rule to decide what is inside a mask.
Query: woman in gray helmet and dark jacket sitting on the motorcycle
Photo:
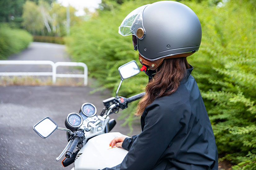
[[[112,147],[129,152],[121,164],[104,170],[217,170],[213,130],[186,60],[201,43],[195,13],[179,2],[155,2],[132,11],[119,33],[132,35],[150,80],[136,113],[141,134],[114,138]]]

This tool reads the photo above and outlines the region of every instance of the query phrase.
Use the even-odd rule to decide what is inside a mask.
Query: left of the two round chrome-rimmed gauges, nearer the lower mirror
[[[83,118],[78,113],[68,114],[65,125],[70,130],[76,130],[83,124]]]

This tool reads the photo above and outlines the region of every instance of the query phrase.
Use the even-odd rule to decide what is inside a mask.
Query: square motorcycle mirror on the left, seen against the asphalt
[[[42,138],[47,138],[56,130],[58,127],[57,123],[50,117],[45,117],[33,126],[33,130]]]

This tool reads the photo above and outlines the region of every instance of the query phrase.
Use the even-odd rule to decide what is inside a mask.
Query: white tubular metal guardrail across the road
[[[83,78],[86,86],[88,81],[88,68],[83,62],[52,62],[47,60],[0,60],[0,65],[50,65],[52,72],[0,72],[0,76],[52,76],[52,83],[56,83],[56,77]],[[56,74],[58,66],[81,66],[83,74]]]

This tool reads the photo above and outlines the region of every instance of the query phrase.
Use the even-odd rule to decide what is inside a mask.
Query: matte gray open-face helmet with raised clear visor
[[[175,1],[135,9],[121,23],[119,34],[136,36],[134,49],[150,63],[165,57],[176,58],[174,55],[178,54],[187,57],[199,49],[202,38],[201,24],[194,11]]]

